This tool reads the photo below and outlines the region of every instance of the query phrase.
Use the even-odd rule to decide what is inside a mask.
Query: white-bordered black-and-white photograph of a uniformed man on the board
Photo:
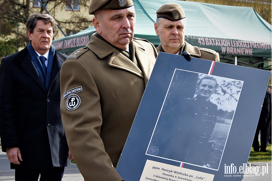
[[[242,86],[175,69],[146,154],[219,170]]]

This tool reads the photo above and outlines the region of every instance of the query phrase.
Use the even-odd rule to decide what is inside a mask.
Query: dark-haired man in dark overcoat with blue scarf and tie
[[[60,113],[60,68],[67,56],[51,45],[56,21],[34,13],[31,43],[0,66],[0,136],[15,180],[60,181],[70,154]]]

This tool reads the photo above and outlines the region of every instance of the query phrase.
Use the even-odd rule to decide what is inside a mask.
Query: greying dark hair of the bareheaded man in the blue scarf
[[[37,24],[37,20],[43,20],[45,24],[50,23],[51,26],[53,27],[53,33],[56,32],[57,22],[55,21],[55,19],[49,14],[41,13],[34,13],[28,18],[27,22],[25,23],[27,31],[33,33],[34,28],[36,27]]]

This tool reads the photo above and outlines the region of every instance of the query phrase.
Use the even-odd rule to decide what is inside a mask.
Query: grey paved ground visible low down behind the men
[[[250,164],[250,165],[249,165]],[[257,163],[248,163],[248,166],[260,166],[259,173],[263,172],[264,168],[266,169],[265,174],[260,174],[259,176],[255,174],[245,174],[244,179],[241,181],[271,181],[271,162],[257,162]],[[0,181],[15,181],[14,179],[15,172],[10,169],[10,162],[6,156],[6,153],[0,150]],[[229,179],[230,181],[232,179]],[[70,167],[65,167],[64,175],[62,181],[84,181],[83,176],[80,174],[76,164],[72,164]],[[218,180],[215,180],[218,181]]]

